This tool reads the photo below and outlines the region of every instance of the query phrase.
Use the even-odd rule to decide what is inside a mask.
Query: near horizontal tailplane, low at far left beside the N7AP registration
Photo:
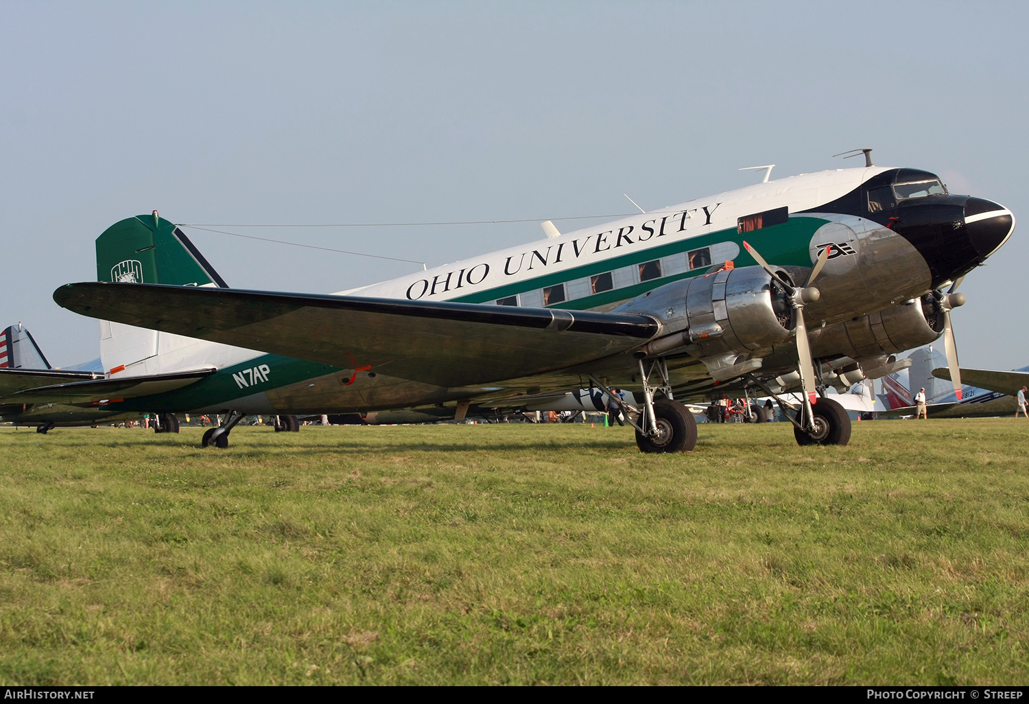
[[[68,379],[70,375],[65,374],[63,375],[65,379],[60,379],[60,377],[56,379],[56,375],[44,376],[42,373],[35,373],[36,376],[33,378],[35,383],[32,386],[13,390],[8,390],[7,387],[2,388],[0,390],[0,403],[5,406],[12,403],[90,404],[115,397],[136,398],[174,391],[214,373],[215,369],[206,368],[196,372],[125,377],[122,379],[90,379],[96,375],[86,372],[83,373],[84,380],[81,378],[82,374],[71,379]],[[0,382],[5,379],[7,374],[0,374]],[[55,384],[55,381],[59,383]]]

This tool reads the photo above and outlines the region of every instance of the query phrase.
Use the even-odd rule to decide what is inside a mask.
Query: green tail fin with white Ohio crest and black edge
[[[97,238],[97,280],[228,288],[182,231],[156,210],[115,222]]]

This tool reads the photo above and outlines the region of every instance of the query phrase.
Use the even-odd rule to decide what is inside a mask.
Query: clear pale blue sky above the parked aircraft
[[[96,321],[50,293],[95,280],[97,235],[154,208],[194,223],[624,213],[623,192],[655,208],[753,182],[739,167],[787,176],[871,146],[1029,218],[1027,21],[1027,3],[0,2],[0,324],[23,320],[56,364],[97,356]],[[962,287],[963,365],[1029,363],[1025,226]],[[412,270],[187,232],[234,287]],[[541,231],[240,232],[433,266]]]

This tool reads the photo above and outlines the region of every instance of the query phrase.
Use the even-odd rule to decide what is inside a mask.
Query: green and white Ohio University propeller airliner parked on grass
[[[331,295],[229,289],[173,223],[128,218],[97,240],[100,281],[54,293],[102,321],[106,378],[0,403],[226,413],[204,437],[226,447],[243,414],[461,417],[618,388],[636,392],[623,410],[640,450],[664,453],[696,444],[679,401],[724,392],[776,397],[800,445],[846,445],[826,387],[891,374],[894,353],[943,335],[961,388],[955,288],[1015,228],[996,203],[865,160],[567,234],[544,223],[537,243]]]

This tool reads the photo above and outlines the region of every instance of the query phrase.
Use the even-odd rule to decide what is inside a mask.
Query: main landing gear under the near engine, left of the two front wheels
[[[643,383],[643,408],[635,409],[611,391],[593,375],[590,380],[596,388],[607,394],[622,408],[626,419],[636,428],[636,445],[641,452],[659,454],[669,452],[690,452],[697,446],[697,420],[689,410],[672,397],[672,385],[668,379],[668,365],[663,357],[650,361],[645,369],[643,359],[637,359],[640,381]],[[661,376],[660,385],[650,385],[650,376],[657,372]],[[654,398],[659,391],[663,398]],[[630,411],[635,414],[635,418]]]

